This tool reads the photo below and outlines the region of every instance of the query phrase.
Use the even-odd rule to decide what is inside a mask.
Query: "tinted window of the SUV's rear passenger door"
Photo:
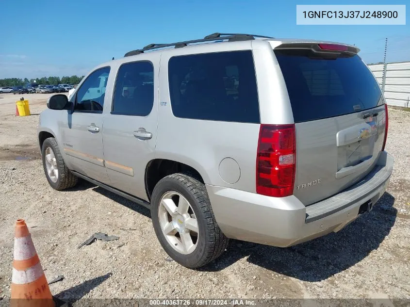
[[[115,82],[113,113],[146,116],[154,103],[154,67],[150,62],[122,65]]]

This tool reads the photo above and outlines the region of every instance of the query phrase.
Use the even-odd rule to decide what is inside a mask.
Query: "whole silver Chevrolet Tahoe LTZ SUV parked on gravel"
[[[393,170],[385,100],[358,51],[221,33],[130,51],[69,101],[49,98],[46,177],[149,208],[164,250],[189,268],[229,238],[286,247],[337,232]]]

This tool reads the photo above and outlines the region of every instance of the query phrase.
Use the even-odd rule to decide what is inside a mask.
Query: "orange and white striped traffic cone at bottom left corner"
[[[16,222],[10,303],[11,307],[55,307],[24,220]]]

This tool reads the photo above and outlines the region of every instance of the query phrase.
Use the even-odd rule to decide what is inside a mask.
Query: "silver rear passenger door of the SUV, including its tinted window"
[[[144,200],[145,169],[155,158],[159,59],[160,55],[119,66],[111,112],[104,117],[104,158],[111,185]]]

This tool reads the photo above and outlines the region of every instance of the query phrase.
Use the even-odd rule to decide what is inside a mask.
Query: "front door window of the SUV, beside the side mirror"
[[[102,112],[110,67],[94,71],[77,90],[74,111]]]

